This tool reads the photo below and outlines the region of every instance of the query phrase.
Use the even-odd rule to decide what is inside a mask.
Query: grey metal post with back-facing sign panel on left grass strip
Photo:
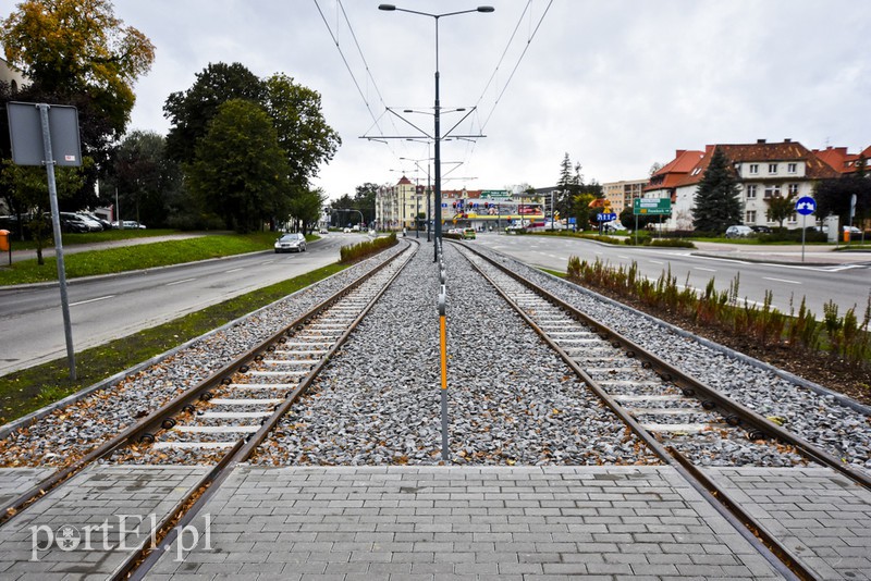
[[[66,360],[70,367],[70,379],[75,381],[75,349],[73,348],[73,327],[70,320],[70,299],[66,295],[66,269],[63,264],[63,240],[54,165],[82,165],[78,112],[74,107],[22,102],[8,103],[7,111],[13,163],[46,166],[48,196],[51,205],[51,226],[54,233],[54,252],[58,261],[58,282],[61,289],[63,334],[66,337]],[[41,140],[37,138],[40,134]]]

